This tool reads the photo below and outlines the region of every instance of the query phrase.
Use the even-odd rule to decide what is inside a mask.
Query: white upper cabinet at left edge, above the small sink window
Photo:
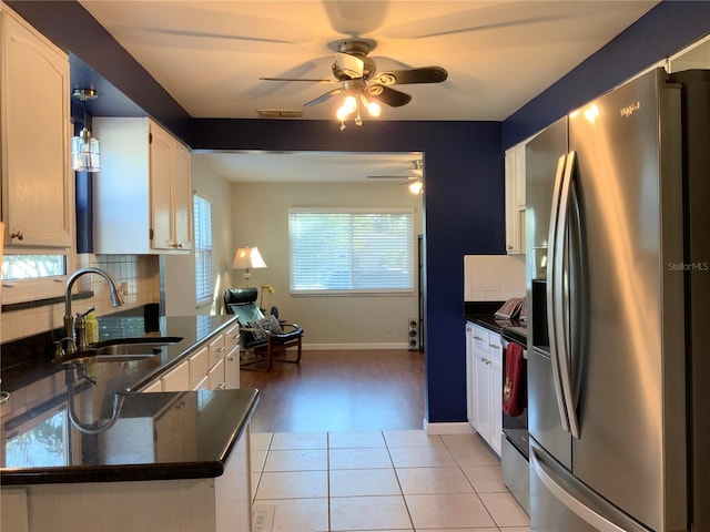
[[[6,247],[72,244],[69,58],[0,3]]]

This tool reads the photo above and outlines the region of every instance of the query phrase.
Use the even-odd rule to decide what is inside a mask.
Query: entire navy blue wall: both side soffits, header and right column
[[[8,3],[195,149],[425,153],[428,420],[464,421],[463,256],[504,253],[503,149],[710,31],[710,2],[665,1],[505,123],[191,120],[75,1]]]

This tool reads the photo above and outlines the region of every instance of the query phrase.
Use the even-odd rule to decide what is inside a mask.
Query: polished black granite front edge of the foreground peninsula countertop
[[[226,392],[231,390],[224,390]],[[221,391],[217,391],[217,393]],[[176,392],[179,393],[179,392]],[[197,393],[196,391],[190,393]],[[34,469],[3,468],[0,469],[1,485],[30,484],[68,484],[84,482],[131,482],[151,480],[184,480],[210,479],[221,477],[236,442],[244,436],[244,431],[254,415],[258,403],[258,390],[252,389],[252,397],[223,450],[215,460],[193,462],[165,463],[134,463],[95,467],[50,467]]]

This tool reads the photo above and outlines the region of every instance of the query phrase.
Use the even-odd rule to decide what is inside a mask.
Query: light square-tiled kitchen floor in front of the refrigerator
[[[272,532],[529,532],[476,434],[252,433],[254,505]],[[265,530],[264,532],[270,532]]]

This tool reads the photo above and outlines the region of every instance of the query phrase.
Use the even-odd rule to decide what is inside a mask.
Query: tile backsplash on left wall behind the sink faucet
[[[109,272],[124,290],[125,305],[120,310],[160,301],[159,257],[152,255],[80,255],[79,267],[94,266]],[[85,275],[77,279],[74,289],[91,290],[93,297],[75,299],[72,310],[95,307],[97,317],[115,313],[111,306],[109,286],[102,277]],[[0,341],[6,342],[52,330],[63,325],[64,304],[54,303],[36,308],[3,311],[0,315]]]

